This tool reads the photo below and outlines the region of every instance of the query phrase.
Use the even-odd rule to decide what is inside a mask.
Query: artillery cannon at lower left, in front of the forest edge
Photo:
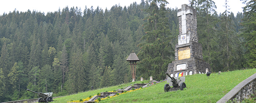
[[[27,89],[27,91],[31,91],[31,90]],[[35,94],[37,94],[38,96],[41,97],[41,98],[38,99],[38,103],[46,103],[46,102],[53,101],[52,100],[52,92],[50,92],[50,93],[41,93],[41,92],[37,93],[35,91],[31,91],[31,92],[33,92],[33,93],[35,93]]]

